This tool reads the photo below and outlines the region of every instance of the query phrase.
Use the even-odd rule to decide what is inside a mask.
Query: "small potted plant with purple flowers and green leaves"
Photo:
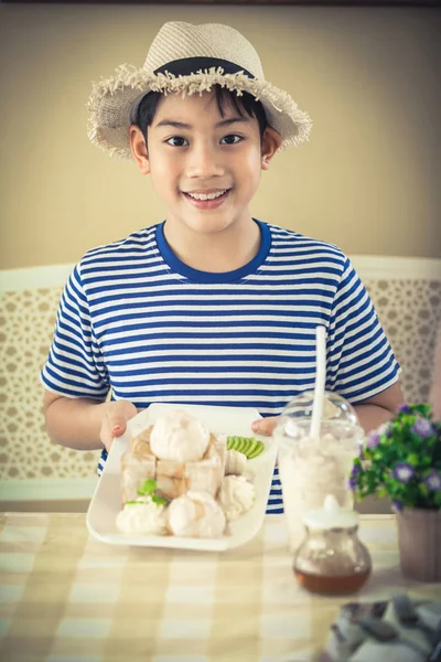
[[[358,501],[390,499],[402,574],[441,581],[441,421],[432,420],[430,405],[404,405],[367,436],[349,487]]]

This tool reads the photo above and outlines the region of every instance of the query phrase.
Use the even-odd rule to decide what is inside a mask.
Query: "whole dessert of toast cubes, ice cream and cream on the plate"
[[[234,439],[251,453],[263,448]],[[133,435],[121,457],[119,531],[207,538],[227,533],[228,522],[255,502],[255,487],[244,476],[247,457],[233,446],[227,449],[225,435],[179,408]]]

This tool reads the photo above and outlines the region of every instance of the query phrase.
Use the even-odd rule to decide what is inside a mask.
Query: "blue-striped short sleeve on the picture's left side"
[[[64,288],[41,381],[49,391],[66,397],[103,401],[109,391],[109,380],[94,335],[79,265],[74,268]]]

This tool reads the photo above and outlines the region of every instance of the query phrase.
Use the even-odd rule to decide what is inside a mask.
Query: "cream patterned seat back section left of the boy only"
[[[62,288],[10,291],[0,309],[0,480],[86,478],[98,451],[53,444],[43,420],[40,371]]]

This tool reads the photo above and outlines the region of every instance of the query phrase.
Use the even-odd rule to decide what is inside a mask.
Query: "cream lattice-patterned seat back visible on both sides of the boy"
[[[441,277],[364,279],[402,367],[408,402],[426,401],[441,324]],[[61,287],[7,291],[0,301],[0,480],[88,478],[98,451],[54,445],[44,430],[40,370],[47,355]]]

